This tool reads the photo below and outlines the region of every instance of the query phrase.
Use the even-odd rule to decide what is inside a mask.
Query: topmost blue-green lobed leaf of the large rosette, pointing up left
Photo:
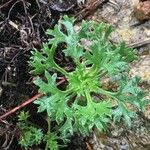
[[[74,31],[74,21],[74,18],[64,16],[58,25],[54,27],[54,30],[47,30],[47,34],[53,36],[53,38],[49,40],[50,44],[57,46],[57,44],[65,42],[67,44],[64,50],[65,55],[71,56],[75,61],[79,61],[80,56],[83,54],[83,48],[79,45],[78,34]],[[62,25],[64,25],[67,30],[66,34],[61,31]]]

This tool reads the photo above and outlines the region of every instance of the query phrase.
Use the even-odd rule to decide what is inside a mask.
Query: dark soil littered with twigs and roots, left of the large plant
[[[46,0],[41,2],[36,0],[1,0],[0,115],[38,92],[32,83],[33,76],[29,73],[31,68],[28,61],[31,50],[34,48],[40,49],[42,42],[48,38],[45,31],[48,28],[53,28],[59,18],[65,13],[70,13],[69,11],[72,11],[75,6],[75,0],[69,3],[63,2],[63,4],[60,4],[59,1],[48,3]],[[70,60],[64,59],[61,54],[62,48],[60,47],[56,54],[57,63],[73,69]],[[60,88],[63,88],[63,86]],[[32,116],[31,120],[34,123],[39,123],[40,116],[36,115],[34,104],[30,104],[21,110],[28,110]],[[16,128],[18,113],[8,116],[6,120],[0,123],[0,149],[20,149],[18,146],[19,131]],[[43,126],[46,128],[44,123],[42,123]],[[78,147],[85,147],[83,146],[84,140],[80,141],[81,137],[75,137],[73,141],[78,140]],[[71,149],[74,149],[72,146],[73,144]]]

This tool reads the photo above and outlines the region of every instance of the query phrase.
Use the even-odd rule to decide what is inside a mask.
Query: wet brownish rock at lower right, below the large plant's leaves
[[[107,134],[95,131],[92,143],[93,150],[149,150],[150,125],[137,119],[130,130],[118,126]]]

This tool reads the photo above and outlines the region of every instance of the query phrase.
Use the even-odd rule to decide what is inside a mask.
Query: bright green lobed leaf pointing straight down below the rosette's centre
[[[76,124],[81,133],[89,133],[94,126],[98,127],[99,130],[106,129],[112,115],[111,105],[108,101],[91,102],[90,106],[77,105],[74,107],[76,108]]]

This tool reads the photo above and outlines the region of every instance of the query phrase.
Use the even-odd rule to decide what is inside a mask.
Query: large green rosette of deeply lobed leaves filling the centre
[[[53,137],[59,136],[64,141],[74,132],[87,135],[94,127],[106,130],[111,121],[123,120],[131,126],[136,115],[133,108],[143,110],[146,105],[145,94],[138,87],[139,79],[130,78],[128,74],[128,63],[136,58],[133,49],[125,47],[124,43],[118,47],[112,45],[108,40],[112,28],[107,24],[83,21],[80,29],[75,30],[74,21],[74,18],[64,16],[53,30],[47,30],[51,38],[43,44],[41,51],[32,51],[30,61],[33,74],[44,73],[44,77],[40,75],[34,81],[44,96],[34,103],[38,105],[39,113],[47,114],[46,137],[55,135]],[[83,44],[83,41],[90,44]],[[73,71],[68,72],[55,62],[55,51],[61,43],[65,45],[65,56],[75,63]],[[65,90],[56,85],[57,73],[50,72],[64,75],[68,82]],[[116,88],[104,88],[105,79]],[[51,133],[53,121],[56,126]],[[34,132],[31,128],[31,131],[34,136],[39,130]],[[57,146],[52,148],[54,138],[50,139],[45,140],[46,148],[57,149]],[[29,146],[33,143],[35,139]]]

